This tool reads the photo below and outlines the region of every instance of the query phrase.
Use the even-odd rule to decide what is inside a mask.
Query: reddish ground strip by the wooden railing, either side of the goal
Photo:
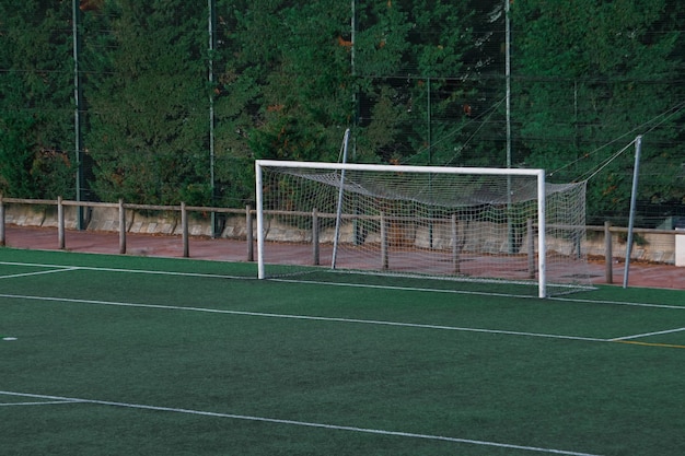
[[[5,226],[5,245],[14,248],[58,250],[59,238],[56,229]],[[93,231],[65,232],[65,249],[96,254],[119,254],[119,234]],[[151,257],[182,258],[184,256],[181,236],[132,234],[126,235],[126,254]],[[218,261],[246,261],[245,241],[211,239],[191,236],[188,242],[190,258]],[[0,259],[1,259],[0,250]],[[613,283],[623,285],[625,265],[613,265]],[[669,265],[630,264],[629,287],[647,287],[685,290],[685,268]],[[606,283],[603,261],[590,261],[588,274],[593,283]]]

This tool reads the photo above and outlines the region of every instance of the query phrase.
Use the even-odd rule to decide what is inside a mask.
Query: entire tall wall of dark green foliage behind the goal
[[[71,198],[72,1],[48,3],[0,2],[0,189]],[[510,3],[513,165],[601,168],[591,217],[625,213],[631,153],[602,166],[641,133],[640,199],[683,202],[685,3]],[[255,159],[336,161],[347,128],[357,162],[507,165],[503,0],[216,0],[211,54],[207,2],[79,4],[88,198],[242,207]]]

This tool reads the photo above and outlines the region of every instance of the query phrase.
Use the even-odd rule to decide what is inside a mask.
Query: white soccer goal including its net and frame
[[[256,161],[259,278],[355,271],[587,284],[585,185],[542,169]]]

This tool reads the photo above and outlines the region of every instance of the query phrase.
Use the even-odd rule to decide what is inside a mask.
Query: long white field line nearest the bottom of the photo
[[[498,448],[520,449],[520,451],[556,454],[556,455],[599,456],[599,455],[593,455],[590,453],[577,453],[577,452],[569,452],[569,451],[564,451],[564,449],[542,448],[542,447],[536,447],[536,446],[523,446],[523,445],[514,445],[514,444],[498,443],[498,442],[486,442],[486,441],[477,441],[477,440],[471,440],[471,439],[450,437],[450,436],[443,436],[443,435],[417,434],[417,433],[400,432],[400,431],[384,431],[384,430],[379,430],[379,429],[314,423],[314,422],[306,422],[306,421],[283,420],[283,419],[278,419],[278,418],[253,417],[253,416],[246,416],[246,414],[219,413],[219,412],[189,410],[189,409],[181,409],[181,408],[173,408],[173,407],[146,406],[146,405],[140,405],[140,404],[113,402],[108,400],[91,400],[91,399],[47,396],[47,395],[34,395],[34,394],[26,394],[26,393],[14,393],[14,391],[2,391],[2,390],[0,390],[0,395],[49,399],[49,400],[58,400],[58,401],[65,401],[65,402],[92,404],[92,405],[97,405],[97,406],[120,407],[120,408],[138,409],[138,410],[185,413],[185,414],[193,414],[193,416],[200,416],[200,417],[228,418],[232,420],[245,420],[245,421],[257,421],[257,422],[272,423],[272,424],[287,424],[287,425],[297,425],[297,426],[305,426],[305,428],[317,428],[317,429],[326,429],[326,430],[332,430],[332,431],[348,431],[348,432],[359,432],[359,433],[397,436],[397,437],[422,439],[422,440],[431,440],[431,441],[462,443],[462,444],[471,444],[471,445],[479,445],[479,446],[491,446],[491,447],[498,447]]]

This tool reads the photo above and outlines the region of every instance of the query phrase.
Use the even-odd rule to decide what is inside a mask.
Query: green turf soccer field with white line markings
[[[0,249],[0,454],[685,454],[683,292],[255,276]]]

